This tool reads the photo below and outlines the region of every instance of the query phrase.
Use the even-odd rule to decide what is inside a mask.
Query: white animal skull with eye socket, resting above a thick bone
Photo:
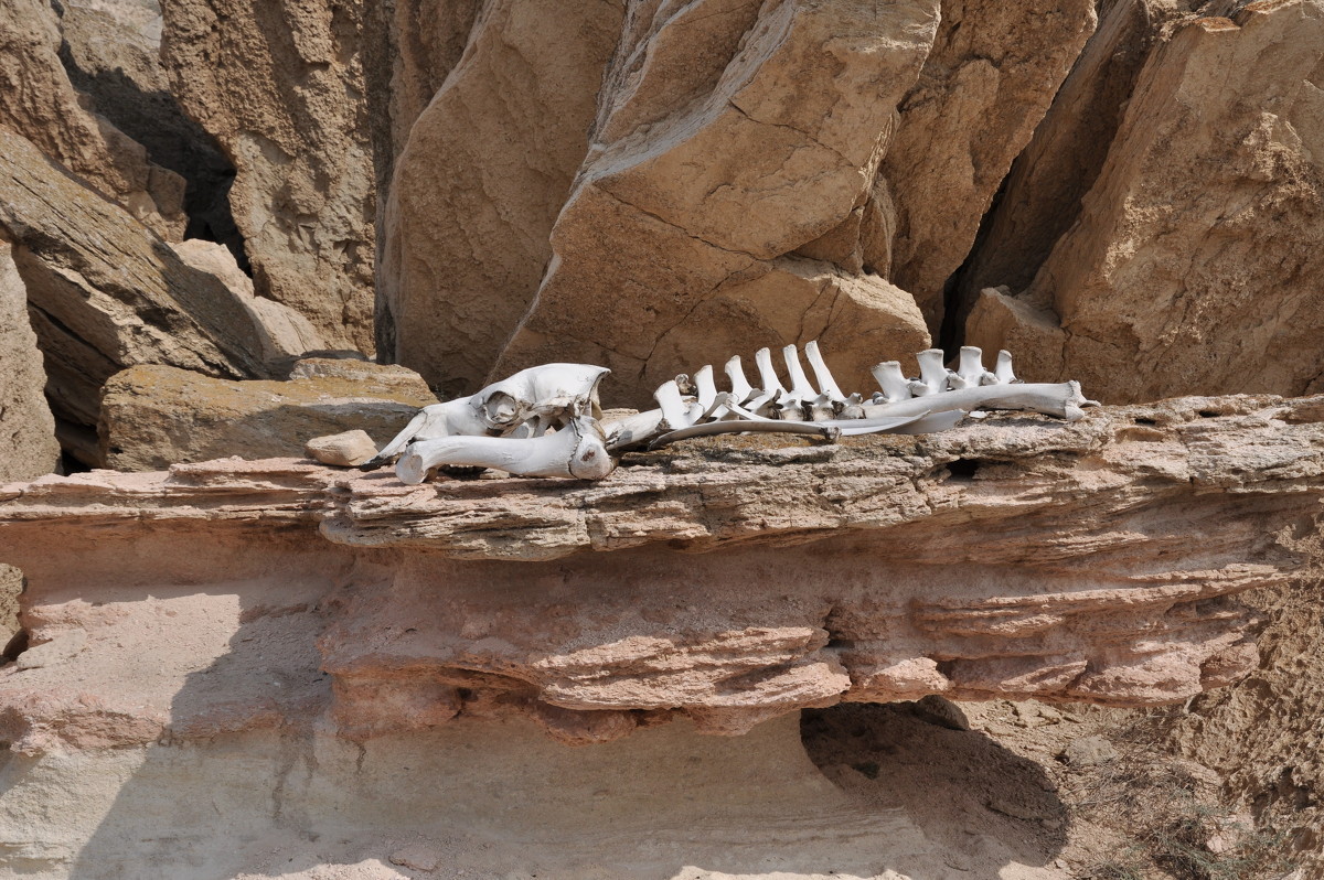
[[[593,364],[522,369],[470,397],[424,406],[361,470],[375,470],[410,442],[442,437],[539,437],[587,413],[601,412],[597,386],[612,371]]]

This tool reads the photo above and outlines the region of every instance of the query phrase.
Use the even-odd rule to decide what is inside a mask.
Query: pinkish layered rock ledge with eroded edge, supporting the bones
[[[710,441],[594,484],[409,487],[294,459],[45,476],[0,488],[0,558],[28,573],[33,644],[86,644],[0,670],[0,736],[40,750],[330,719],[364,738],[515,709],[592,742],[677,713],[740,733],[925,693],[1182,700],[1254,666],[1231,597],[1304,565],[1279,539],[1320,528],[1321,476],[1324,396]],[[124,621],[189,590],[237,594],[228,644],[175,684],[158,658],[156,684],[119,670],[98,692],[98,646],[135,662]],[[166,613],[188,643],[188,614]],[[254,679],[289,648],[306,668],[281,674],[303,684],[189,692],[258,635]]]

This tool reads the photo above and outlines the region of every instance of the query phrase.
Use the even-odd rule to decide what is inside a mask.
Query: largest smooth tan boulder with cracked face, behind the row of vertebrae
[[[873,340],[842,340],[829,357],[876,363],[927,344],[894,288],[814,257],[845,250],[820,241],[842,224],[865,226],[896,103],[936,26],[936,0],[634,11],[547,275],[490,374],[600,363],[614,371],[609,394],[642,402],[678,371],[809,341],[818,326],[782,316],[824,308],[828,288],[804,277],[834,273],[871,291],[846,304],[862,326],[912,343],[865,353]],[[813,257],[792,255],[810,242]],[[809,266],[788,271],[797,259]],[[714,320],[730,310],[720,300],[740,304],[739,326]]]

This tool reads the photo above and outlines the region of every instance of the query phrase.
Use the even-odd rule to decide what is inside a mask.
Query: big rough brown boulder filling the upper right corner
[[[981,294],[967,340],[1104,401],[1324,386],[1321,28],[1315,0],[1178,26],[1079,220],[1027,290]]]

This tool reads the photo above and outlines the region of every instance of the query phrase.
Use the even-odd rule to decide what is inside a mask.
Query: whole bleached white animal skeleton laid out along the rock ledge
[[[943,351],[916,355],[918,378],[907,378],[898,361],[871,371],[880,392],[867,401],[843,394],[812,341],[805,357],[809,381],[794,345],[781,349],[786,388],[767,348],[755,355],[759,386],[744,374],[740,357],[723,368],[731,390],[718,390],[712,367],[694,378],[681,374],[653,397],[658,409],[602,418],[597,388],[610,371],[591,364],[544,364],[489,385],[473,397],[425,406],[376,458],[372,470],[399,457],[396,475],[421,483],[438,467],[494,467],[516,476],[602,479],[616,466],[614,454],[647,445],[655,449],[688,437],[741,431],[814,434],[826,439],[855,434],[924,434],[952,427],[977,410],[1030,410],[1067,421],[1098,406],[1080,384],[1025,384],[1012,371],[1012,356],[998,352],[992,371],[982,352],[961,349],[948,369]]]

